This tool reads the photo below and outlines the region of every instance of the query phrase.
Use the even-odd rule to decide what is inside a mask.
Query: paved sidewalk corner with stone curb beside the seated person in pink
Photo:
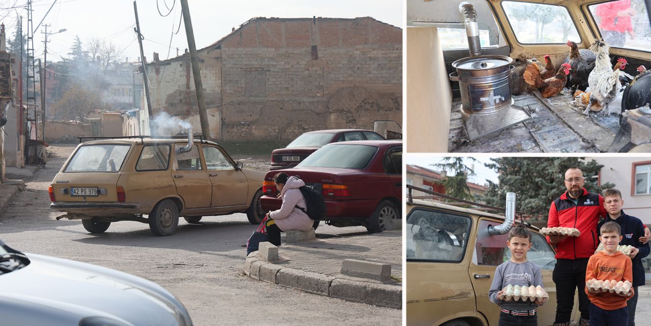
[[[278,247],[279,262],[251,252],[244,273],[251,278],[369,305],[402,308],[402,230],[344,238],[312,239]],[[393,282],[342,275],[344,259],[391,265]]]

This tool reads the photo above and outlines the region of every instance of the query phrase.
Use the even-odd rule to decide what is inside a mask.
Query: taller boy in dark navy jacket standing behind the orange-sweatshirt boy
[[[608,211],[608,217],[597,225],[597,234],[600,234],[602,225],[614,221],[622,228],[622,241],[620,245],[631,245],[633,250],[628,255],[633,262],[633,289],[635,294],[628,301],[628,326],[635,326],[635,306],[637,306],[637,287],[644,285],[644,267],[642,258],[649,254],[649,244],[641,243],[639,238],[644,236],[644,224],[637,217],[626,215],[622,210],[624,200],[622,193],[615,188],[603,191],[603,207]]]

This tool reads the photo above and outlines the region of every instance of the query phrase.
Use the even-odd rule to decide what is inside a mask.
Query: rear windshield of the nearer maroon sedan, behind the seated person
[[[333,144],[312,153],[299,163],[298,167],[364,169],[376,152],[378,152],[376,146]]]

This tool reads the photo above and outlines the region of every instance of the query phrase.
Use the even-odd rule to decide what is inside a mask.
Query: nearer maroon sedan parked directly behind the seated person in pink
[[[281,198],[273,176],[299,176],[326,200],[326,224],[366,226],[368,232],[401,223],[402,141],[346,141],[323,146],[297,167],[267,172],[260,198],[263,211],[277,210]]]

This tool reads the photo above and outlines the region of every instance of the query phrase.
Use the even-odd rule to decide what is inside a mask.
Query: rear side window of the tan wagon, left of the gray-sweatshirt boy
[[[415,208],[407,216],[407,260],[461,262],[471,219],[443,211]]]

